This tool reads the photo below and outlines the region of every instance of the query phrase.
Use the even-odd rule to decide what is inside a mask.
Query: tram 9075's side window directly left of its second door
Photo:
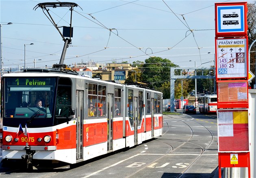
[[[98,86],[98,116],[106,116],[106,86]]]

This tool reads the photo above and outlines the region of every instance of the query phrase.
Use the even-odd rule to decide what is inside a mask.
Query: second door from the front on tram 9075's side
[[[113,149],[113,94],[108,94],[108,150]]]

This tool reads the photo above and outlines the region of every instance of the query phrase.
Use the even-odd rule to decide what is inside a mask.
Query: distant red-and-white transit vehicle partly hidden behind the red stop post
[[[198,97],[197,101],[200,113],[217,113],[217,94]]]

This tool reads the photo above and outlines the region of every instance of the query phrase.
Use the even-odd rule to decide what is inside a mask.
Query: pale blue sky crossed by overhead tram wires
[[[157,56],[180,67],[213,66],[215,3],[241,1],[62,0],[78,4],[64,63],[132,63]],[[33,10],[42,2],[58,1],[0,0],[3,70],[24,67],[24,45],[26,67],[34,61],[36,67],[59,64],[64,41],[47,12]],[[58,27],[69,26],[69,8],[48,9]]]

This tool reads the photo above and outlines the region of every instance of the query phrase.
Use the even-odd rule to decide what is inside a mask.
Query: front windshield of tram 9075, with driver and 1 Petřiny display
[[[39,120],[50,121],[52,118],[55,90],[54,77],[5,77],[4,125],[17,127],[17,123],[30,124],[35,121],[34,126],[39,124],[42,127]]]

